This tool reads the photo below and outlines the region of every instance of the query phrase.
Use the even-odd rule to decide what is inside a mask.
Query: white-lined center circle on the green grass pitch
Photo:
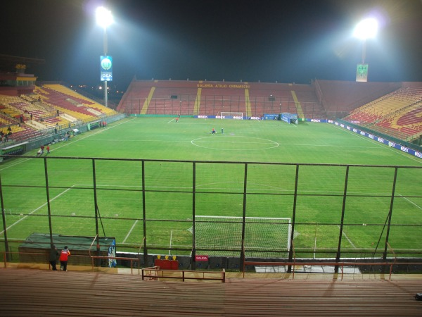
[[[222,135],[200,137],[198,139],[193,139],[191,143],[196,147],[226,151],[251,151],[260,149],[272,149],[279,146],[279,143],[271,141],[271,139]]]

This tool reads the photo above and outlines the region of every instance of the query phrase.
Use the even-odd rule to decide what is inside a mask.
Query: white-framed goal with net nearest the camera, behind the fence
[[[243,217],[196,216],[197,254],[239,256]],[[290,249],[290,218],[245,217],[245,256],[286,258]]]

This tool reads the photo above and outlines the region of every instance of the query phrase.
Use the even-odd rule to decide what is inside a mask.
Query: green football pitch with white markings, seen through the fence
[[[1,231],[14,248],[48,233],[49,213],[53,233],[94,236],[97,211],[117,251],[146,237],[148,249],[189,254],[193,210],[292,219],[294,209],[298,256],[332,257],[342,218],[343,256],[383,249],[386,235],[404,255],[422,250],[422,160],[335,125],[132,117],[36,154],[0,165]],[[264,227],[257,235],[271,237]],[[216,227],[211,243],[233,230]]]

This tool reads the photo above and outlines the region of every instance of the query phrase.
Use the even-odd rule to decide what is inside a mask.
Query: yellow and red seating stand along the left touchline
[[[0,94],[0,131],[7,134],[1,138],[6,147],[119,115],[117,111],[59,84],[7,88],[1,92],[4,94]]]

